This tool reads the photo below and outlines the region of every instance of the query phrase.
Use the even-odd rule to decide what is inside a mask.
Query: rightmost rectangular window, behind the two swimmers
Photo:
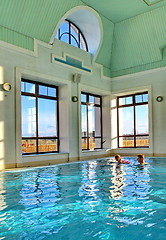
[[[118,147],[149,147],[148,92],[117,98]]]

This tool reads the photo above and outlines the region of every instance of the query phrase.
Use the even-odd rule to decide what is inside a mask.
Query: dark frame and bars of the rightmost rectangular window
[[[148,108],[149,108],[149,99],[148,101],[144,101],[144,102],[139,102],[139,103],[136,103],[135,99],[136,99],[136,96],[139,96],[139,95],[143,95],[143,94],[148,94],[148,98],[149,98],[149,93],[148,91],[144,91],[144,92],[139,92],[139,93],[134,93],[134,94],[127,94],[127,95],[123,95],[123,96],[118,96],[117,97],[117,142],[118,142],[118,148],[149,148],[150,146],[137,146],[136,144],[136,138],[137,137],[149,137],[149,133],[148,134],[136,134],[136,106],[141,106],[141,105],[148,105]],[[125,98],[125,97],[132,97],[132,103],[131,104],[119,104],[119,99],[120,98]],[[134,125],[134,134],[131,135],[131,134],[128,134],[128,135],[119,135],[119,109],[120,108],[125,108],[125,107],[133,107],[134,110],[133,110],[133,113],[134,113],[134,119],[133,119],[133,125]],[[149,115],[149,111],[148,111],[148,115]],[[149,129],[148,129],[149,130]],[[149,132],[149,131],[148,131]],[[120,138],[121,137],[133,137],[134,139],[134,146],[129,146],[129,147],[121,147],[119,142],[120,142]]]

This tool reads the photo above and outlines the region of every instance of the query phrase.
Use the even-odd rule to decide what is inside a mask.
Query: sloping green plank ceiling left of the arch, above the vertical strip
[[[80,0],[1,0],[0,25],[31,38],[49,42],[61,17]]]

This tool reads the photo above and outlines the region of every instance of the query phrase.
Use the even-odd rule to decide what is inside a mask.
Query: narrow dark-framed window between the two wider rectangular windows
[[[102,148],[102,98],[82,92],[82,150]]]

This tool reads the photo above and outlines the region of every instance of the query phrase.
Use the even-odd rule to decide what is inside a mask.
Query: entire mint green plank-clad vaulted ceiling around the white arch
[[[0,0],[0,41],[29,50],[34,39],[49,43],[59,21],[80,6],[100,16],[96,62],[104,75],[166,66],[166,0]]]

